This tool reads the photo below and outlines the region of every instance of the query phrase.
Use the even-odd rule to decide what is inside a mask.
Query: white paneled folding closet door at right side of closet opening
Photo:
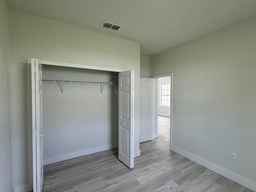
[[[134,70],[119,73],[118,159],[134,167]]]

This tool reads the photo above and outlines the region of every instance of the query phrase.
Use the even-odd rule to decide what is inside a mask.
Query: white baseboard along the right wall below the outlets
[[[237,182],[253,191],[256,191],[256,182],[254,181],[251,181],[247,178],[244,178],[234,172],[231,172],[229,170],[226,170],[225,168],[223,167],[220,167],[216,164],[213,164],[212,162],[209,162],[207,160],[204,160],[198,156],[195,156],[194,154],[191,154],[189,152],[186,152],[178,147],[175,147],[172,145],[172,151],[178,153],[178,154],[181,154],[182,156],[194,161],[194,162],[197,162],[198,164],[202,165],[202,166],[205,166],[207,167],[208,169],[210,170],[213,170],[214,172],[218,173],[218,174],[221,174],[222,176],[225,176],[226,178],[229,178],[231,180],[233,180],[234,182]]]

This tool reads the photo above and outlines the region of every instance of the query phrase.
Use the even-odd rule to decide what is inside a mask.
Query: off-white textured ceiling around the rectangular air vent
[[[256,15],[256,0],[5,0],[8,8],[140,42],[162,52]],[[106,20],[122,26],[100,27]]]

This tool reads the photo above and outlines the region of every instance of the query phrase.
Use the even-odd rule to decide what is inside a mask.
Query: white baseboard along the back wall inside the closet
[[[118,147],[118,143],[114,143],[114,144],[103,145],[103,146],[94,147],[94,148],[90,148],[90,149],[86,149],[86,150],[82,150],[82,151],[77,151],[77,152],[73,152],[73,153],[68,153],[68,154],[64,154],[64,155],[54,156],[54,157],[50,157],[50,158],[44,158],[43,164],[48,165],[48,164],[52,164],[52,163],[56,163],[56,162],[60,162],[60,161],[64,161],[64,160],[68,160],[68,159],[72,159],[72,158],[76,158],[76,157],[80,157],[80,156],[84,156],[84,155],[88,155],[88,154],[92,154],[92,153],[96,153],[96,152],[100,152],[100,151],[105,151],[105,150],[109,150],[109,149],[117,148],[117,147]]]

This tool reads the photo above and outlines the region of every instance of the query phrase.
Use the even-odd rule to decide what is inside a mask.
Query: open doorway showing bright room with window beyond
[[[172,143],[172,74],[153,76],[154,133],[164,145]]]

